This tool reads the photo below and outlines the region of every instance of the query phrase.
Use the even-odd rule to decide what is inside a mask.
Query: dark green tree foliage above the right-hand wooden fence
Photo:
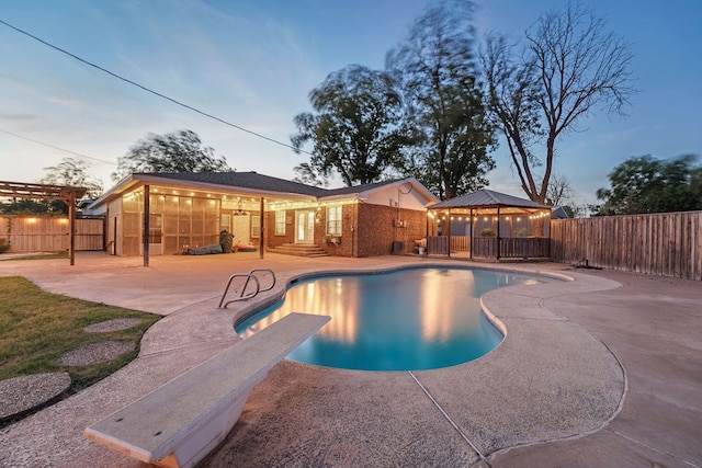
[[[597,191],[599,215],[633,215],[702,209],[702,168],[697,157],[671,160],[630,158],[609,174],[611,189]]]

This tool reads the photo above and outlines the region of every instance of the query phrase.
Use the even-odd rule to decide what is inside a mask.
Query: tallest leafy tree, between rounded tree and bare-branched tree
[[[414,130],[401,171],[442,199],[487,185],[494,168],[488,151],[495,132],[477,81],[472,10],[469,2],[428,9],[386,57],[401,81]]]

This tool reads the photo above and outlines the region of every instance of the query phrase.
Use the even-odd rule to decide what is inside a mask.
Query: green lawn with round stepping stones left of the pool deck
[[[138,318],[126,330],[89,333],[83,328],[111,319]],[[134,359],[144,332],[160,316],[43,292],[21,276],[0,277],[0,380],[24,375],[67,372],[68,395],[109,376]],[[89,366],[64,366],[58,357],[100,341],[129,341],[134,351]]]

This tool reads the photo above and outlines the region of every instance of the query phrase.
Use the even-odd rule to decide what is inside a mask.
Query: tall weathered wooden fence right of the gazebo
[[[702,212],[551,221],[551,259],[702,279]]]

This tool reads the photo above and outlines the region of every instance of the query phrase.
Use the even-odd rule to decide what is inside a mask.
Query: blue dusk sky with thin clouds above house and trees
[[[0,20],[143,87],[290,145],[308,93],[350,64],[382,69],[429,0],[0,0]],[[475,25],[523,37],[557,0],[477,0]],[[595,203],[632,156],[702,155],[702,1],[589,0],[631,44],[639,92],[558,142],[554,172]],[[64,158],[113,185],[117,158],[147,134],[191,129],[237,171],[292,179],[308,160],[189,111],[0,24],[0,180],[36,182]],[[52,148],[54,147],[54,148]],[[60,148],[60,149],[59,149]],[[71,151],[71,152],[66,152]],[[80,155],[80,156],[78,156]],[[524,196],[508,149],[489,189]],[[702,161],[699,161],[702,163]],[[340,185],[337,183],[336,185]]]

